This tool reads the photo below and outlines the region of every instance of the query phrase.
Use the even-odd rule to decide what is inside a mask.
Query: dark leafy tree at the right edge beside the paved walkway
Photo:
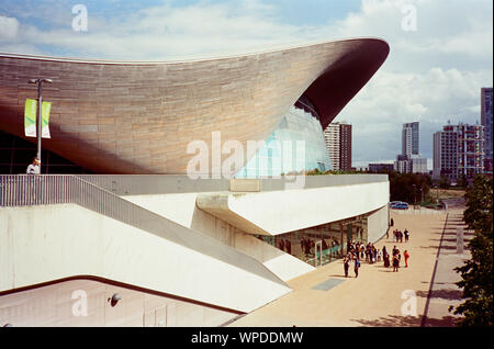
[[[460,326],[493,326],[493,221],[492,178],[476,176],[467,190],[467,210],[463,221],[475,232],[468,244],[472,258],[462,267],[454,268],[462,280],[457,285],[463,289],[465,301],[454,308],[453,314],[464,317]],[[452,311],[452,307],[450,307]]]

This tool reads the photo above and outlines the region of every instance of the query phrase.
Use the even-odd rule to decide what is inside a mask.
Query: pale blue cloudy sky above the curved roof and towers
[[[435,132],[480,123],[492,0],[0,0],[0,53],[176,60],[362,36],[391,50],[335,119],[352,124],[353,166],[393,161],[403,124],[418,121],[431,168]]]

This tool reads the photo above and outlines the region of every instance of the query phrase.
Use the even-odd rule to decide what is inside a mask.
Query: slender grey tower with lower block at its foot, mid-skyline
[[[394,170],[401,173],[426,173],[427,159],[419,154],[418,122],[403,124],[402,154],[394,161]]]

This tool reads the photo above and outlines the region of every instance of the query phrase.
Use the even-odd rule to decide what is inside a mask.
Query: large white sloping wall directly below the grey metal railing
[[[248,313],[291,291],[254,258],[245,260],[259,268],[251,272],[75,204],[0,209],[0,292],[94,275]]]

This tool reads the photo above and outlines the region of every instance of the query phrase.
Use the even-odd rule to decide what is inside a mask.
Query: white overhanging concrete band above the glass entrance
[[[279,235],[388,204],[388,181],[261,193],[201,193],[198,206],[251,234]]]

